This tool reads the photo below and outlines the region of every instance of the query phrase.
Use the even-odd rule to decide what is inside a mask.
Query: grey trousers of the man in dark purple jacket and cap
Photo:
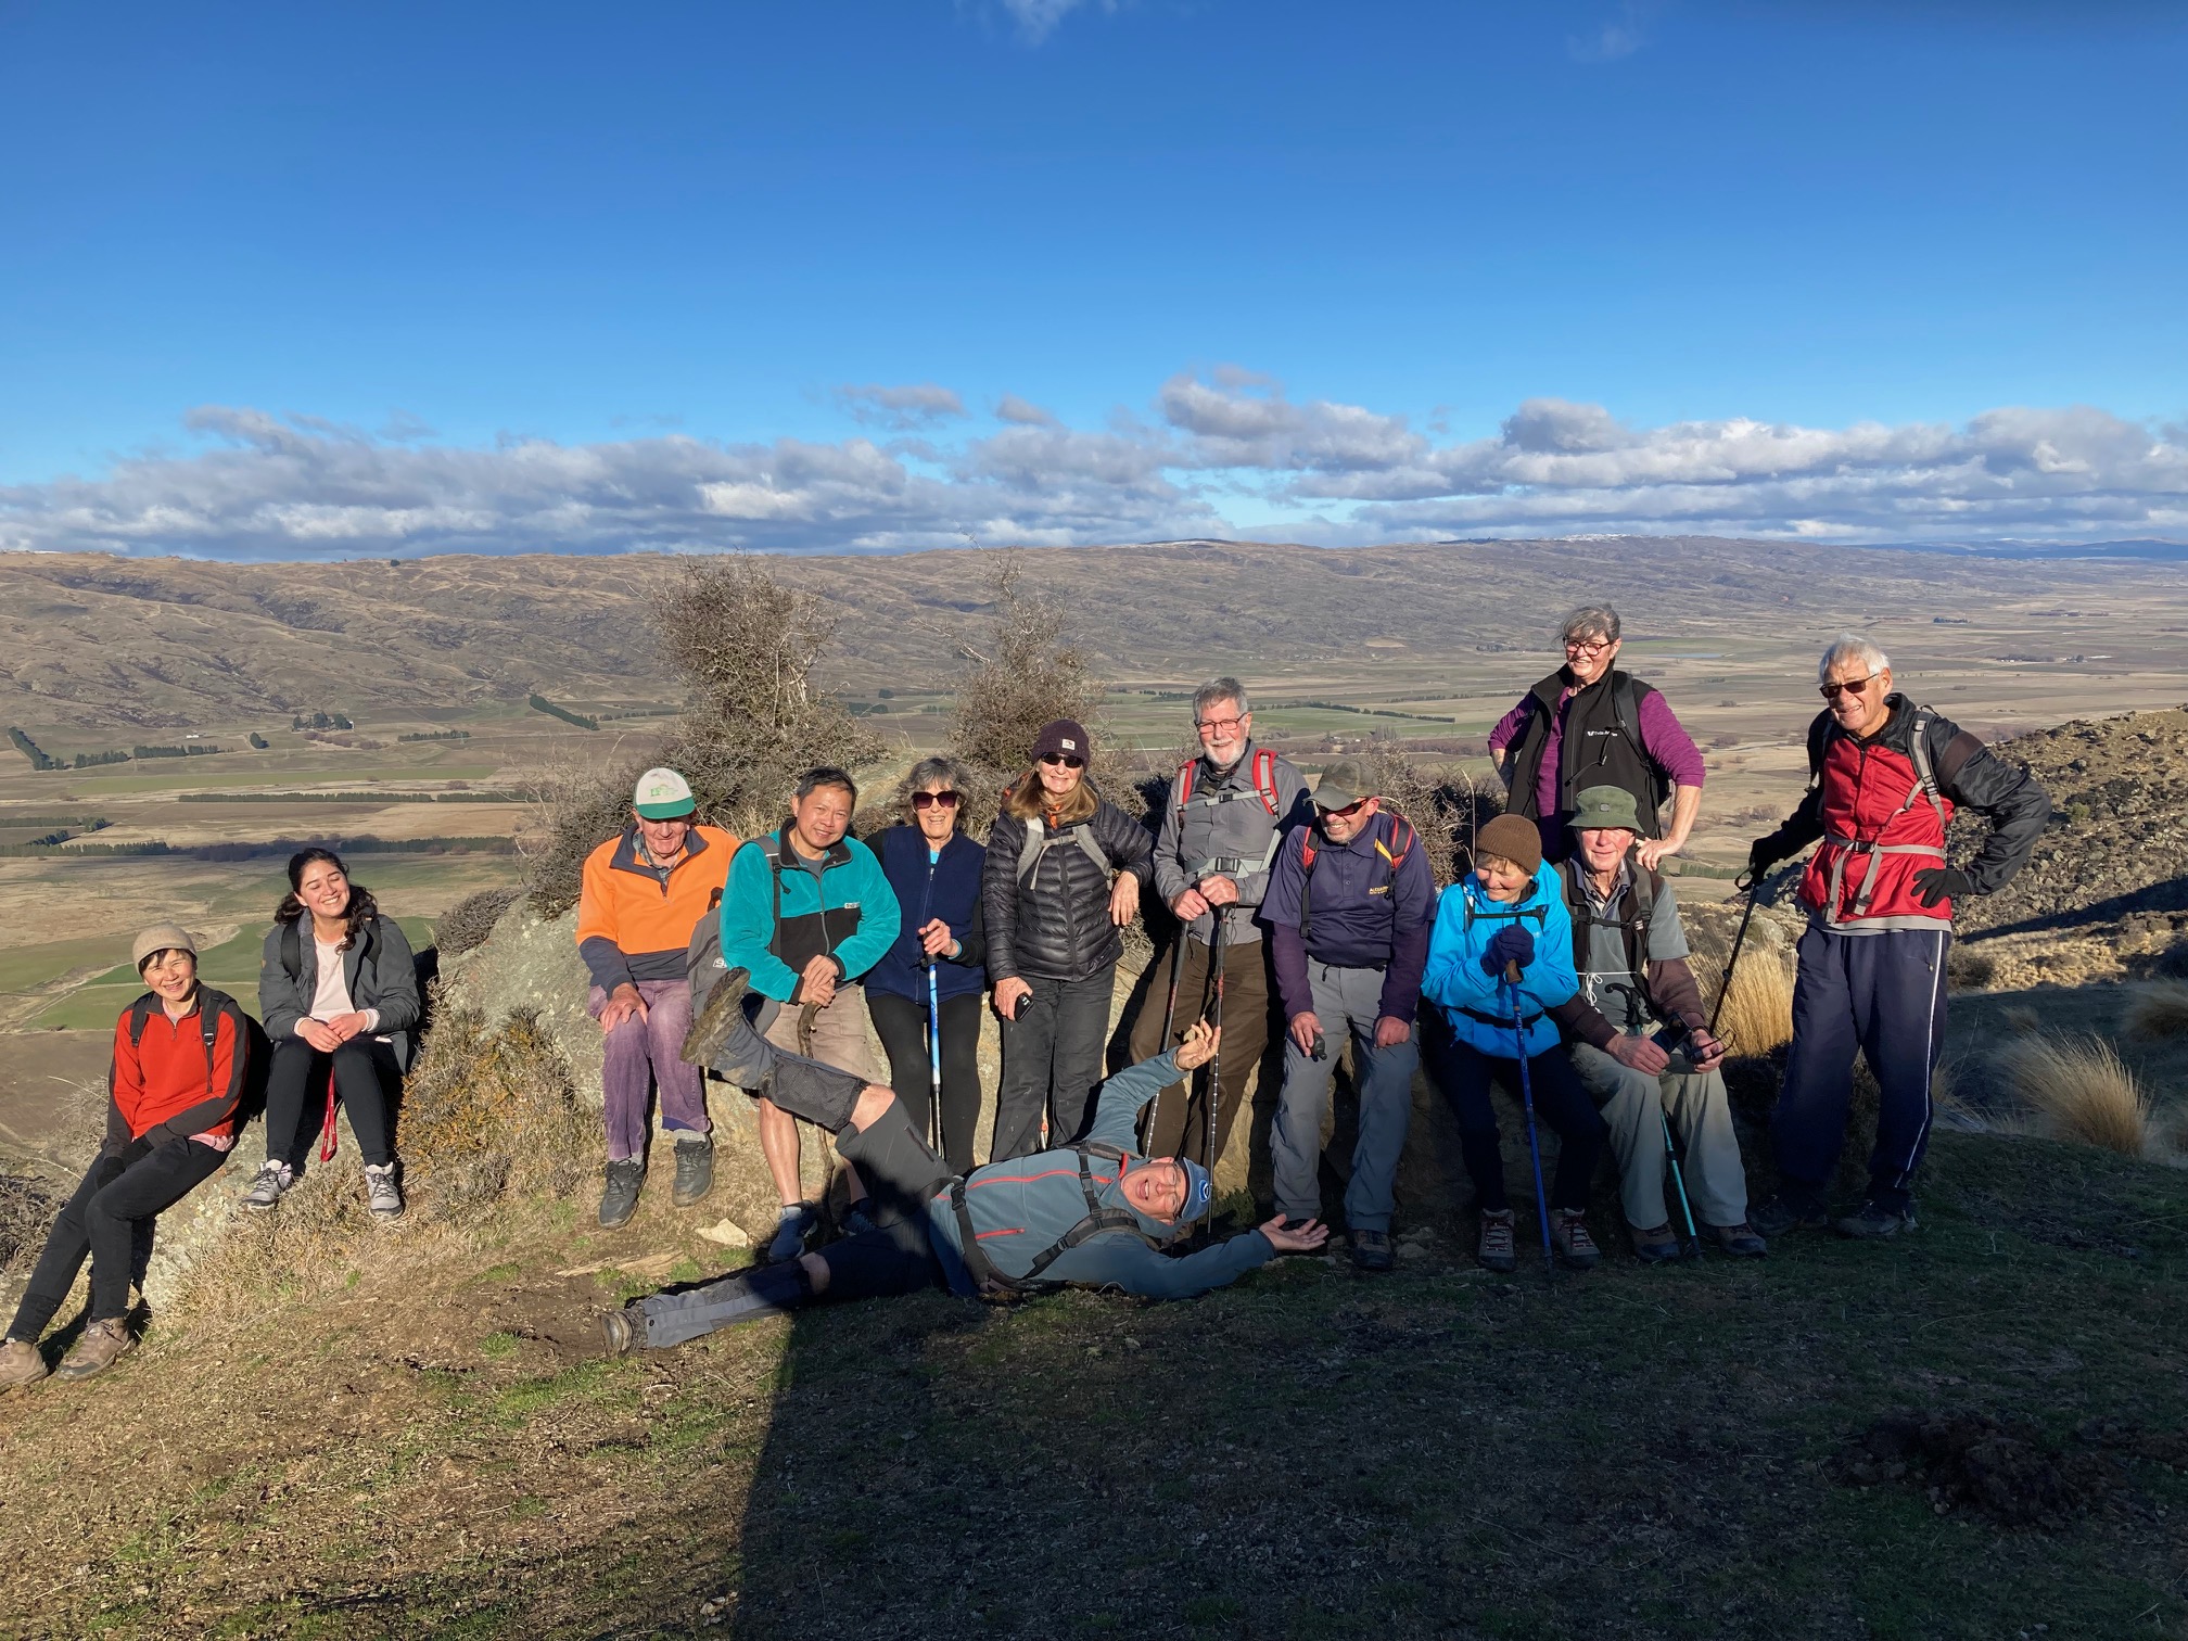
[[[1392,1048],[1374,1046],[1374,1022],[1383,1004],[1381,969],[1339,969],[1306,961],[1315,991],[1315,1020],[1326,1039],[1324,1059],[1300,1052],[1284,1039],[1284,1094],[1269,1129],[1269,1162],[1276,1171],[1276,1206],[1291,1219],[1322,1217],[1322,1116],[1330,1107],[1330,1074],[1346,1033],[1352,1035],[1352,1068],[1361,1094],[1359,1138],[1352,1144],[1352,1182],[1346,1186],[1348,1230],[1389,1230],[1392,1179],[1413,1122],[1413,1068],[1420,1048],[1411,1037]]]

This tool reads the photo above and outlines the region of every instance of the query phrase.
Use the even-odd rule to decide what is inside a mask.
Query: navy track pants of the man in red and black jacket
[[[1952,930],[1801,936],[1792,1057],[1770,1140],[1790,1197],[1820,1201],[1847,1144],[1853,1050],[1877,1079],[1869,1199],[1901,1210],[1930,1144],[1930,1076],[1945,1046],[1945,952]]]

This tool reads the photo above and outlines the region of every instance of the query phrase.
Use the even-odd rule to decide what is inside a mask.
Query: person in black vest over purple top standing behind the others
[[[1637,858],[1656,871],[1687,847],[1702,810],[1702,755],[1663,696],[1619,672],[1619,613],[1591,604],[1564,617],[1564,665],[1529,689],[1490,731],[1508,810],[1543,831],[1543,858],[1564,860],[1582,788],[1632,792],[1641,812]],[[1672,801],[1672,825],[1663,803]]]

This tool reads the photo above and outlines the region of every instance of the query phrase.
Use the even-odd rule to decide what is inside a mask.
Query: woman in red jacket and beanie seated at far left
[[[249,1026],[234,998],[197,985],[197,943],[158,923],[131,945],[151,987],[114,1022],[107,1140],[68,1199],[0,1346],[0,1389],[46,1376],[37,1339],[92,1260],[92,1304],[61,1378],[112,1368],[129,1337],[129,1260],[138,1223],[155,1219],[221,1171],[236,1142],[236,1101]]]

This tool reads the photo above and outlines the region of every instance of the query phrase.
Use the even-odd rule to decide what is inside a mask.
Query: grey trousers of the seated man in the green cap
[[[1687,1201],[1698,1225],[1739,1225],[1748,1217],[1748,1177],[1739,1166],[1739,1140],[1733,1136],[1733,1107],[1724,1098],[1724,1076],[1718,1072],[1676,1072],[1661,1076],[1619,1066],[1599,1048],[1573,1044],[1573,1070],[1582,1087],[1602,1103],[1610,1127],[1610,1155],[1619,1160],[1619,1197],[1626,1221],[1637,1230],[1674,1223],[1676,1208],[1665,1203],[1663,1122],[1687,1142],[1680,1164],[1687,1179]],[[1674,1066],[1685,1061],[1676,1059]]]

